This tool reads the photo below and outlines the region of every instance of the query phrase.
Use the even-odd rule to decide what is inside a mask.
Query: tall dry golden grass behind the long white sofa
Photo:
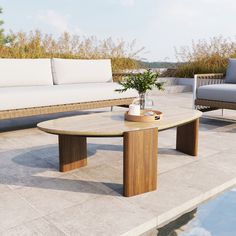
[[[136,49],[135,41],[126,43],[111,38],[98,40],[96,37],[80,37],[63,33],[60,37],[42,34],[40,31],[30,33],[10,33],[10,42],[0,45],[0,58],[70,58],[112,60],[113,72],[125,69],[137,69],[136,59],[143,50]]]

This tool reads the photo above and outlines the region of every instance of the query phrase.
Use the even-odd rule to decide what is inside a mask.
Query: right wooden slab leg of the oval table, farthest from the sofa
[[[176,149],[191,156],[198,153],[199,119],[177,127]]]

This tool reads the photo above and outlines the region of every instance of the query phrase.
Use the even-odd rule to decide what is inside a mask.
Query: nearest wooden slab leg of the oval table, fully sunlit
[[[158,129],[124,133],[124,196],[157,188]]]

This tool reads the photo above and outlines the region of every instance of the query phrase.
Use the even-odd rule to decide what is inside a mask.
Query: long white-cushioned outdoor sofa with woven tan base
[[[110,60],[0,59],[0,119],[128,105]]]

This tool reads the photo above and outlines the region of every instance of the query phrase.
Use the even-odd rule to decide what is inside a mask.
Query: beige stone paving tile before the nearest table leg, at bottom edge
[[[154,215],[127,201],[104,196],[45,218],[68,235],[116,236],[152,220]]]

